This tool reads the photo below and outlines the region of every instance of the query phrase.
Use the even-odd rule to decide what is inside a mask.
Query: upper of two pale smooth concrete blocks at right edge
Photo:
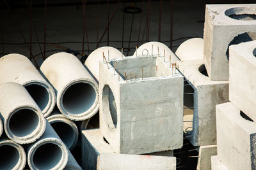
[[[256,41],[230,46],[229,99],[239,110],[256,121]]]

